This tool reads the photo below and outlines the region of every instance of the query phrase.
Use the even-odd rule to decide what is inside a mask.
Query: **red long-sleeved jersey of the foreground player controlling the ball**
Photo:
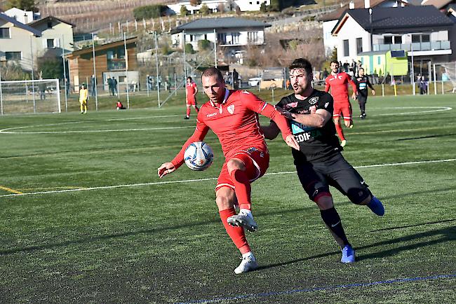
[[[189,144],[204,139],[209,129],[217,135],[225,158],[246,148],[267,151],[264,135],[260,130],[258,113],[269,117],[279,126],[285,139],[292,132],[288,120],[274,109],[274,106],[244,90],[225,89],[222,104],[209,101],[201,106],[196,120],[196,130],[187,139],[180,153],[171,161],[176,167],[184,163],[184,152]]]

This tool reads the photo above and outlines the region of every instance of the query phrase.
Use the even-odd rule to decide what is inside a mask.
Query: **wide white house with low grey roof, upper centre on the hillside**
[[[241,62],[248,46],[264,45],[264,29],[270,26],[243,18],[203,18],[172,29],[171,41],[178,48],[184,48],[189,43],[194,50],[199,50],[198,42],[208,40],[223,47],[224,55],[236,56]]]

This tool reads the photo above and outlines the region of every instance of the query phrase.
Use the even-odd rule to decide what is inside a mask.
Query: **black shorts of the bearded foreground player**
[[[360,204],[370,195],[368,185],[341,153],[322,162],[296,165],[302,188],[313,201],[320,195],[330,195],[329,186],[337,188],[354,204]]]

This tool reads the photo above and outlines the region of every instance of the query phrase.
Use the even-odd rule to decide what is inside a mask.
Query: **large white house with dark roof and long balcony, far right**
[[[455,60],[454,30],[454,22],[435,6],[405,6],[349,9],[332,34],[337,60],[362,60],[368,74],[374,73],[374,62],[382,65],[382,54],[394,50],[403,50],[409,62],[414,58],[416,74],[427,74],[429,64]]]

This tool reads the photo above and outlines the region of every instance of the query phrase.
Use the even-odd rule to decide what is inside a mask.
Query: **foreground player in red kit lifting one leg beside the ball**
[[[229,237],[241,251],[242,261],[236,274],[258,267],[250,250],[243,228],[250,232],[257,229],[251,212],[250,184],[262,177],[269,166],[269,152],[260,131],[258,113],[271,118],[282,132],[288,146],[299,150],[299,145],[274,106],[245,90],[228,90],[218,69],[211,67],[203,72],[203,90],[209,101],[201,106],[196,120],[196,130],[170,163],[158,168],[159,177],[174,172],[184,163],[184,152],[189,144],[204,139],[209,129],[222,144],[225,162],[215,186],[215,202],[220,219]],[[234,205],[239,205],[236,214]]]

